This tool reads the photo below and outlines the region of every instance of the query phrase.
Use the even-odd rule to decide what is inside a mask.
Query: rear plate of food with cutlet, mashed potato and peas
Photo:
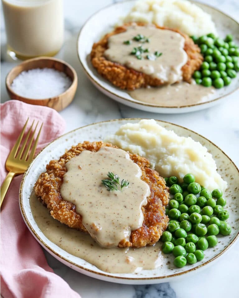
[[[124,1],[101,9],[87,20],[79,34],[78,56],[96,88],[120,103],[154,113],[183,113],[208,108],[239,88],[239,76],[236,75],[239,70],[237,21],[213,7],[193,1],[180,4],[186,5],[188,14],[184,15],[180,14],[183,10],[179,8],[180,5],[174,6],[173,1],[170,5],[166,4],[170,7],[161,7],[162,4],[157,6],[157,3],[134,7],[135,3]],[[134,11],[131,11],[132,7]],[[194,13],[198,15],[197,23],[192,22]],[[183,22],[180,17],[184,19]],[[132,25],[132,21],[137,21],[137,25]],[[146,21],[179,29],[180,33],[186,35],[182,37],[171,30],[144,26]],[[114,36],[102,39],[105,34],[113,32],[117,25],[125,23],[128,25],[123,29],[118,27]],[[205,32],[209,33],[206,24],[212,32],[210,36],[220,37],[216,43],[210,36],[204,40]],[[196,41],[200,49],[188,37],[195,34],[203,36]],[[228,34],[233,36],[233,41],[232,36],[226,38]],[[166,42],[158,43],[160,38]],[[183,38],[185,46],[184,51],[181,51]],[[225,38],[226,42],[223,41]],[[98,44],[92,51],[94,43]],[[177,47],[178,51],[175,50]],[[199,68],[202,59],[205,63]],[[159,63],[159,69],[155,66],[157,61],[162,62]],[[171,61],[169,65],[167,61]],[[194,74],[198,68],[199,72]],[[191,76],[199,84],[192,81]],[[183,81],[175,84],[178,80]],[[193,84],[188,84],[189,81]],[[162,87],[161,84],[165,83],[169,85]],[[200,83],[204,86],[214,84],[216,88],[204,87]],[[142,88],[145,86],[151,87]]]

